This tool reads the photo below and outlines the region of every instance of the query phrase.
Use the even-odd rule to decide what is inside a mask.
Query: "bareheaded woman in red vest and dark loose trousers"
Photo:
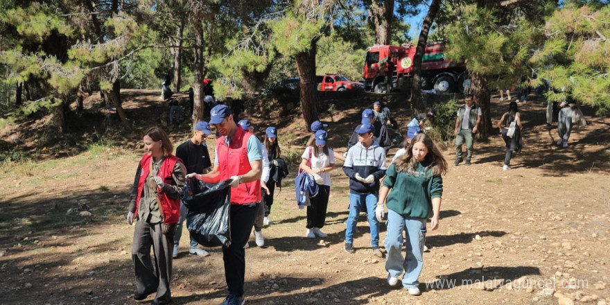
[[[171,302],[173,239],[180,218],[180,194],[186,168],[172,155],[173,145],[161,128],[148,128],[143,142],[146,153],[138,164],[127,214],[130,225],[136,220],[132,247],[136,276],[134,299],[139,301],[157,293],[151,304],[162,305]],[[156,271],[150,246],[155,252]]]

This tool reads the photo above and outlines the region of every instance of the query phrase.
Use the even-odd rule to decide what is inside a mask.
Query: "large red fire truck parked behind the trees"
[[[461,92],[467,79],[464,62],[452,62],[444,58],[444,42],[426,45],[421,61],[421,88],[434,89],[436,93]],[[375,45],[367,49],[363,69],[365,90],[376,93],[408,92],[413,71],[415,47]]]

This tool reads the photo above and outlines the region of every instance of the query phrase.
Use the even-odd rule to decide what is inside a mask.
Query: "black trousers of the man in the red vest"
[[[256,218],[256,204],[231,204],[231,245],[223,247],[223,261],[225,261],[225,279],[229,287],[229,294],[236,297],[243,296],[243,282],[245,277],[245,250],[243,246],[250,238],[254,218]]]

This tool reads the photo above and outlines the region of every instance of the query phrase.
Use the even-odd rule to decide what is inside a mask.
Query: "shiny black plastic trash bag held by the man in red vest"
[[[231,245],[231,180],[208,184],[195,178],[186,180],[182,201],[189,209],[186,228],[204,247]]]

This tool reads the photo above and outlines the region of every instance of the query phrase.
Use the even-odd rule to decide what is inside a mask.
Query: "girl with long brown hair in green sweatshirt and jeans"
[[[405,155],[387,168],[379,191],[376,218],[383,220],[387,203],[387,234],[385,236],[385,270],[387,283],[403,286],[410,295],[419,295],[419,274],[424,266],[424,238],[426,219],[430,229],[438,228],[443,179],[447,162],[427,134],[417,134]],[[406,256],[402,256],[403,230],[406,230]]]

